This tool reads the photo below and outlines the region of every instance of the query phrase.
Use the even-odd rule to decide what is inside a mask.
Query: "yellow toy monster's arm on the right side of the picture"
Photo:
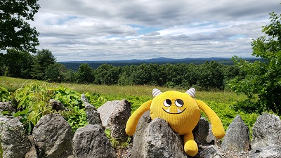
[[[211,131],[213,132],[216,138],[223,138],[226,134],[223,129],[223,124],[221,119],[218,118],[218,115],[211,110],[211,108],[201,100],[196,100],[198,107],[207,115],[208,119],[211,121]]]

